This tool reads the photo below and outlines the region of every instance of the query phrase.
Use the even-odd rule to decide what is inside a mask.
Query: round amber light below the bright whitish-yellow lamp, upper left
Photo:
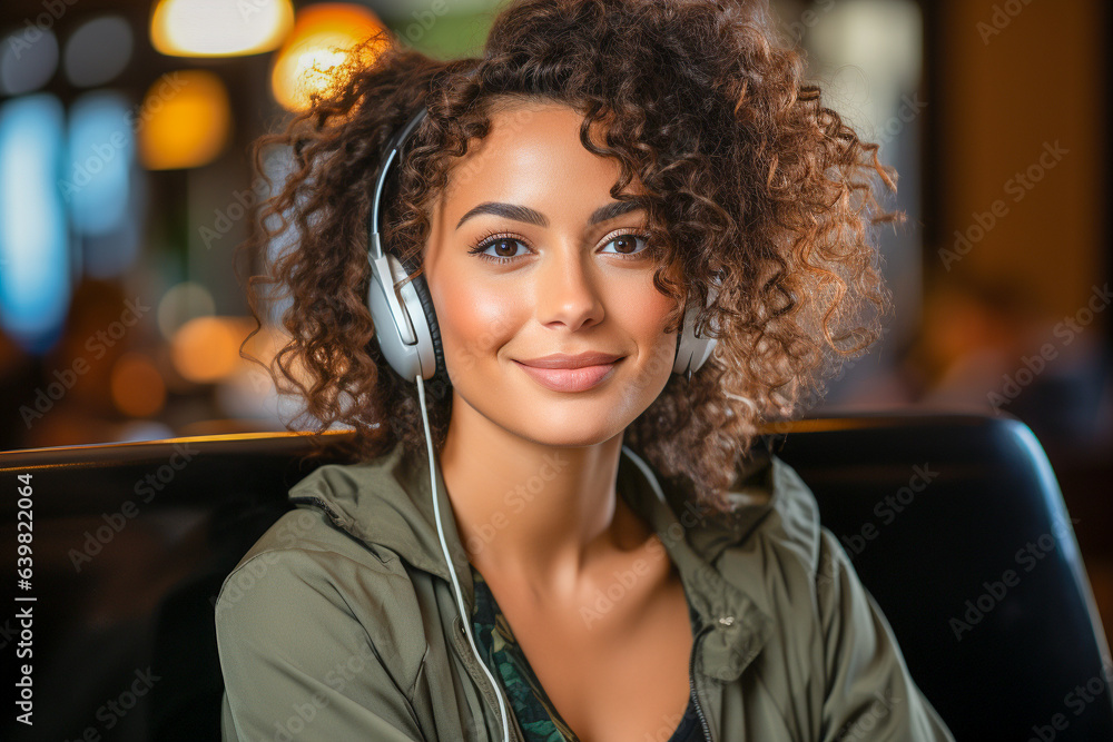
[[[139,118],[139,159],[148,170],[206,165],[232,130],[228,91],[205,70],[177,70],[156,80]]]

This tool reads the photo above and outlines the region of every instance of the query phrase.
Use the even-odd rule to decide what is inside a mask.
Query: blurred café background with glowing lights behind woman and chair
[[[499,4],[4,0],[0,451],[284,429],[288,407],[238,356],[254,324],[233,254],[268,195],[248,145],[358,38],[473,56]],[[877,236],[896,299],[883,342],[805,414],[1030,425],[1113,635],[1107,3],[772,4],[908,215]],[[265,167],[280,180],[288,154]]]

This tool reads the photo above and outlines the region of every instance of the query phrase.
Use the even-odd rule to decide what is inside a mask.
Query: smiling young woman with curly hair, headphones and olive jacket
[[[220,591],[225,739],[952,739],[759,445],[876,336],[897,217],[771,28],[518,0],[259,141],[273,372],[353,432]]]

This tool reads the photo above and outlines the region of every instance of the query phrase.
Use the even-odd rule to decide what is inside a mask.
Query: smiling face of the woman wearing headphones
[[[559,105],[494,113],[450,172],[425,254],[453,415],[463,402],[548,445],[621,433],[660,394],[676,355],[677,335],[664,333],[674,303],[653,286],[646,212],[614,208],[619,165],[583,148],[581,120]],[[577,372],[523,364],[587,352],[620,359]]]

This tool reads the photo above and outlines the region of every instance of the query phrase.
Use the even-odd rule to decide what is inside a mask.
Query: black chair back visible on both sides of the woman
[[[816,419],[771,433],[958,740],[1113,740],[1113,665],[1058,486],[1023,424]],[[0,631],[33,726],[4,740],[219,740],[213,604],[316,465],[260,434],[0,454],[4,544],[29,506],[30,587]],[[319,462],[317,462],[319,464]],[[17,496],[20,475],[30,495]],[[24,491],[26,493],[26,491]],[[9,551],[9,554],[12,552]],[[35,601],[16,601],[35,597]]]

